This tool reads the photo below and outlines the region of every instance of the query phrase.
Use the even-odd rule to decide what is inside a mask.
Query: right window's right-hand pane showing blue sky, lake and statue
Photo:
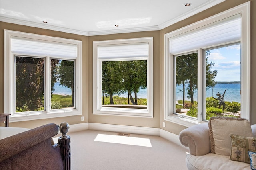
[[[206,120],[240,117],[240,44],[205,51]]]

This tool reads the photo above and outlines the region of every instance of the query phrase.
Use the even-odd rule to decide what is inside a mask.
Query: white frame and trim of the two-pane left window
[[[11,51],[11,37],[24,37],[31,38],[36,40],[44,40],[44,41],[54,41],[59,43],[67,43],[74,44],[78,47],[77,59],[75,61],[75,109],[56,109],[52,111],[36,111],[30,113],[15,113],[14,109],[14,55],[28,55],[31,54],[14,54]],[[34,55],[38,56],[38,55]],[[41,56],[44,57],[44,56]],[[46,60],[49,58],[46,57]],[[46,67],[45,74],[50,74],[49,66]],[[45,87],[50,82],[45,82]],[[50,94],[45,94],[46,98],[50,98]],[[32,33],[24,33],[19,31],[11,31],[4,30],[4,113],[10,113],[10,122],[16,121],[28,121],[28,120],[36,120],[36,119],[47,119],[54,117],[65,117],[65,116],[73,116],[73,115],[81,115],[82,114],[82,41],[72,40],[72,39],[64,39],[59,37],[50,37],[45,35],[38,35]]]

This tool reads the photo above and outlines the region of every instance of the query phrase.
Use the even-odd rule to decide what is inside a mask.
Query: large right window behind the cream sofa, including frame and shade
[[[249,119],[248,6],[165,35],[165,120],[190,126],[216,115]]]

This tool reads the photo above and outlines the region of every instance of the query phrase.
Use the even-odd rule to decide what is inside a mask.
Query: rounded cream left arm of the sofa
[[[184,129],[179,134],[180,143],[189,147],[192,155],[210,153],[210,137],[208,123],[194,125]]]

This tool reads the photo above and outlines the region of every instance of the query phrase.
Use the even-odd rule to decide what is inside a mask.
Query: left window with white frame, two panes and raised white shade
[[[81,114],[81,41],[4,30],[10,121]]]

